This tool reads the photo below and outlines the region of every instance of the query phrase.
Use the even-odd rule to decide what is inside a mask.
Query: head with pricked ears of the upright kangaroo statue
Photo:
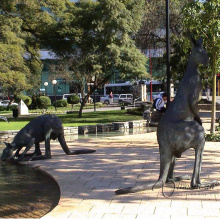
[[[191,55],[193,61],[196,64],[203,64],[204,66],[208,66],[209,57],[207,55],[206,49],[202,46],[202,37],[200,37],[198,40],[195,40],[193,37],[191,37],[191,42],[193,45]]]

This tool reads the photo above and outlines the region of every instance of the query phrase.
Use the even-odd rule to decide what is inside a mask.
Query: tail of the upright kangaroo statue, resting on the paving
[[[144,190],[153,190],[154,188],[161,188],[163,187],[163,181],[157,181],[156,183],[148,183],[146,185],[137,185],[134,187],[127,187],[123,189],[118,189],[115,191],[115,194],[127,194],[127,193],[136,193]]]

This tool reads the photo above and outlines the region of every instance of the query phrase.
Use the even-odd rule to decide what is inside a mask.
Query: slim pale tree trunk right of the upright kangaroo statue
[[[211,116],[211,134],[215,133],[215,117],[216,117],[216,53],[213,53],[212,71],[213,71],[213,85],[212,85],[212,116]]]

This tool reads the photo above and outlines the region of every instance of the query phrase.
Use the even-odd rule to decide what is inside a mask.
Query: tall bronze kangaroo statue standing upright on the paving
[[[188,66],[178,86],[176,97],[170,103],[158,124],[157,140],[160,152],[158,181],[152,184],[119,189],[115,192],[116,194],[134,193],[154,187],[159,188],[169,181],[188,179],[188,176],[174,178],[173,170],[176,158],[180,158],[181,154],[189,148],[195,150],[191,188],[201,186],[200,171],[205,145],[205,132],[199,117],[197,104],[202,90],[202,82],[197,68],[199,64],[207,65],[209,58],[206,50],[202,47],[202,38],[198,41],[192,38],[192,44],[193,48]]]

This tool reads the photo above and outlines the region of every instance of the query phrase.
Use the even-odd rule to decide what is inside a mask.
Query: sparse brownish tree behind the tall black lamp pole
[[[176,38],[179,39],[182,31],[182,16],[181,10],[188,2],[192,0],[172,0],[170,1],[170,33],[171,48],[174,48]],[[144,17],[142,25],[138,33],[136,34],[136,42],[143,51],[151,54],[152,70],[154,78],[164,80],[166,78],[166,54],[165,52],[166,39],[165,39],[165,21],[166,21],[166,10],[164,0],[148,0],[144,9]],[[157,51],[156,55],[160,51],[161,57],[154,58],[153,52]],[[176,52],[176,51],[175,51]],[[171,51],[172,53],[172,51]],[[171,54],[173,55],[173,54]],[[179,58],[179,56],[178,56]],[[176,64],[176,63],[174,63]],[[175,73],[172,68],[172,76]],[[183,72],[183,70],[181,70]],[[158,74],[159,73],[159,74]]]

